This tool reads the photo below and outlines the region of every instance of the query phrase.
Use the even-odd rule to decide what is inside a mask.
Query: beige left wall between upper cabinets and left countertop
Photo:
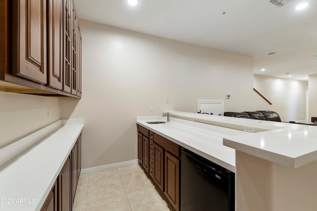
[[[59,98],[0,91],[0,148],[59,119]]]

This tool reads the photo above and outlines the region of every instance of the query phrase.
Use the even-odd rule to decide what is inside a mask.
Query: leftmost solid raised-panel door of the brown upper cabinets
[[[12,1],[12,74],[47,84],[46,0]]]

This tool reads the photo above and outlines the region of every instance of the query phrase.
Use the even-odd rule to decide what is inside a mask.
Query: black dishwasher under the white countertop
[[[234,200],[234,172],[183,148],[180,210],[234,211]]]

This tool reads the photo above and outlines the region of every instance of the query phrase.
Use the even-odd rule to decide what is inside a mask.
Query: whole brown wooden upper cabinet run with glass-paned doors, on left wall
[[[0,91],[81,97],[72,0],[1,0],[0,23]]]

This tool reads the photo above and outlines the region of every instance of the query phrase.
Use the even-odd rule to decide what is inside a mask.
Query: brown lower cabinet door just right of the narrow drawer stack
[[[154,143],[154,169],[153,180],[159,186],[161,191],[164,191],[164,149],[158,144]]]

